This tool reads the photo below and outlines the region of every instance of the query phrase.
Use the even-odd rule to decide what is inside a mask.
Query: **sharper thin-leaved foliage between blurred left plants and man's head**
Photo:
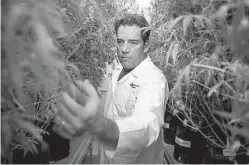
[[[95,1],[60,0],[58,4],[70,13],[66,20],[72,30],[70,37],[60,40],[63,51],[68,54],[66,60],[80,70],[80,76],[74,76],[76,79],[90,79],[97,88],[102,81],[105,62],[112,62],[115,56],[111,51],[114,40],[109,23]]]

